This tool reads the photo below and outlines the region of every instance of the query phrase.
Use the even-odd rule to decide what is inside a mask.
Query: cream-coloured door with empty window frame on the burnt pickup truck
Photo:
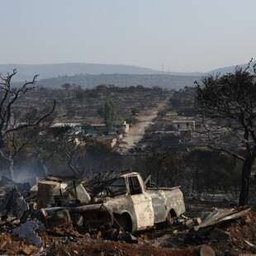
[[[135,208],[137,230],[144,230],[154,225],[154,211],[152,199],[140,186],[137,176],[128,177],[130,198]]]

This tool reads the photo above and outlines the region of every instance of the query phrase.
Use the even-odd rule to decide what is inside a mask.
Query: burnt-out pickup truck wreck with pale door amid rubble
[[[185,211],[179,187],[146,187],[140,173],[99,174],[84,182],[49,177],[38,185],[40,211],[46,226],[73,221],[81,228],[116,227],[146,230]]]

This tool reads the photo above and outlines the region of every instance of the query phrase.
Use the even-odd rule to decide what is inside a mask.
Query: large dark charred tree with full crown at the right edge
[[[249,181],[256,158],[255,71],[255,67],[254,70],[237,68],[234,73],[223,76],[209,75],[197,83],[195,95],[208,147],[231,154],[243,162],[239,193],[241,206],[249,201]],[[215,121],[216,125],[207,126],[209,120]],[[244,150],[238,150],[240,148]]]

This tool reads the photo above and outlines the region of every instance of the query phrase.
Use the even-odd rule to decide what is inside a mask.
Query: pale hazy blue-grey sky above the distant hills
[[[256,0],[0,0],[0,64],[206,72],[256,49]]]

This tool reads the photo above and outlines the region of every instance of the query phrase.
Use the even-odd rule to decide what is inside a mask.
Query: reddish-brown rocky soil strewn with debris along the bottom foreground
[[[236,220],[215,225],[211,230],[188,230],[186,219],[180,218],[171,227],[156,226],[154,230],[136,233],[132,243],[113,240],[110,231],[78,232],[72,225],[39,233],[42,246],[26,244],[12,235],[12,225],[2,226],[0,253],[7,255],[92,255],[92,256],[185,256],[200,255],[196,248],[208,244],[216,255],[236,256],[256,253],[256,206]],[[188,216],[193,212],[187,212]],[[15,224],[13,224],[15,225]],[[202,255],[202,254],[201,254]],[[204,254],[206,255],[206,254]],[[211,255],[211,254],[207,254]]]

